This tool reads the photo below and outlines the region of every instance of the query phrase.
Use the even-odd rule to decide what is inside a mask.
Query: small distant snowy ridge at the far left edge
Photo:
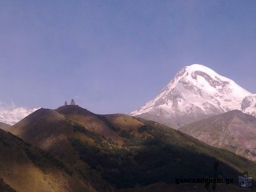
[[[28,116],[30,113],[33,113],[38,109],[40,108],[16,108],[12,110],[0,110],[0,122],[8,125],[14,125],[15,123],[19,122],[20,120]]]

